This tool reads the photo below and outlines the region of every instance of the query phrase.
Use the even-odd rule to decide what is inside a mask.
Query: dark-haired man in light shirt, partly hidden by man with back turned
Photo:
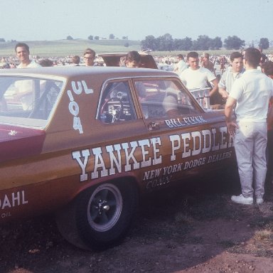
[[[243,56],[240,52],[232,52],[230,55],[231,66],[228,70],[225,70],[218,84],[219,93],[222,95],[223,99],[228,98],[233,82],[241,77],[242,73],[245,71],[244,65],[242,64],[242,58]]]

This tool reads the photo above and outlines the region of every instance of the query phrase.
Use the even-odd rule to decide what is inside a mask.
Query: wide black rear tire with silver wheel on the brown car
[[[137,187],[130,181],[102,183],[80,193],[70,209],[60,213],[58,227],[73,245],[103,250],[127,234],[137,205]]]

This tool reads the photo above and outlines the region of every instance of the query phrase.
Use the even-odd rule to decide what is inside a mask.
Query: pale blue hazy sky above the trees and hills
[[[237,36],[273,41],[273,0],[0,0],[0,38],[53,41],[72,36],[144,40]]]

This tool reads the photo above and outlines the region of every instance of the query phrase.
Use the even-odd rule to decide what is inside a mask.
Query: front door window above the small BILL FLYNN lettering
[[[177,81],[138,80],[134,83],[146,119],[200,113],[193,97]]]

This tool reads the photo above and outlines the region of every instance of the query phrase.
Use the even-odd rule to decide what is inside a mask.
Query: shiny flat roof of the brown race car
[[[164,70],[150,68],[117,68],[117,67],[86,67],[86,66],[60,66],[41,68],[11,68],[0,70],[0,76],[4,75],[28,75],[32,77],[77,77],[83,75],[105,75],[107,77],[140,77],[140,76],[177,76]]]

